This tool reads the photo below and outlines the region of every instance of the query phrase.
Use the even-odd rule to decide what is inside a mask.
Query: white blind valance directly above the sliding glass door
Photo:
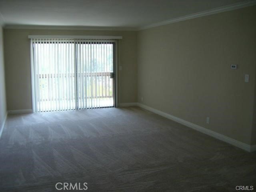
[[[29,35],[29,39],[122,39],[122,36],[88,36],[88,35]]]

